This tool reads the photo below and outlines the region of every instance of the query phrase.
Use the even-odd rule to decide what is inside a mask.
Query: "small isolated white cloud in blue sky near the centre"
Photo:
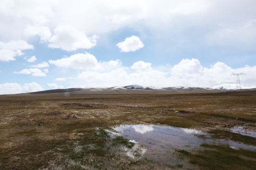
[[[122,52],[136,51],[144,47],[143,42],[137,36],[130,36],[123,42],[117,43]]]

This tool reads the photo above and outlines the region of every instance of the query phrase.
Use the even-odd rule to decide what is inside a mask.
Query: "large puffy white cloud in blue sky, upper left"
[[[58,26],[54,30],[55,35],[49,39],[48,47],[61,48],[65,51],[77,49],[90,49],[97,43],[97,36],[87,37],[84,32],[73,26]]]

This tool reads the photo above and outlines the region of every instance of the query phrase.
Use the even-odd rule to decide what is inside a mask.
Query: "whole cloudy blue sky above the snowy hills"
[[[255,0],[0,0],[0,94],[256,87]]]

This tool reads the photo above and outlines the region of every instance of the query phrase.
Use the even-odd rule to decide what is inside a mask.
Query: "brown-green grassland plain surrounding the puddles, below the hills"
[[[225,145],[177,150],[174,156],[186,163],[130,158],[118,148],[133,144],[122,136],[110,138],[104,130],[123,124],[196,128],[209,132],[211,138],[255,146],[256,138],[228,128],[256,131],[256,91],[0,95],[0,170],[256,169],[255,151]]]

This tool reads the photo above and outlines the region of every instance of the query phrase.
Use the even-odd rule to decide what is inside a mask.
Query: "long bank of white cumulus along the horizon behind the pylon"
[[[81,87],[108,87],[117,85],[138,84],[143,86],[169,87],[169,86],[195,86],[213,87],[227,82],[236,83],[236,77],[230,76],[232,72],[245,72],[240,77],[242,87],[256,86],[253,76],[256,66],[233,69],[222,62],[217,62],[210,68],[203,67],[198,59],[183,59],[169,71],[160,71],[152,68],[151,63],[137,61],[129,68],[120,66],[110,71],[98,70],[83,71],[77,76],[85,86]],[[80,82],[80,83],[81,83]]]

